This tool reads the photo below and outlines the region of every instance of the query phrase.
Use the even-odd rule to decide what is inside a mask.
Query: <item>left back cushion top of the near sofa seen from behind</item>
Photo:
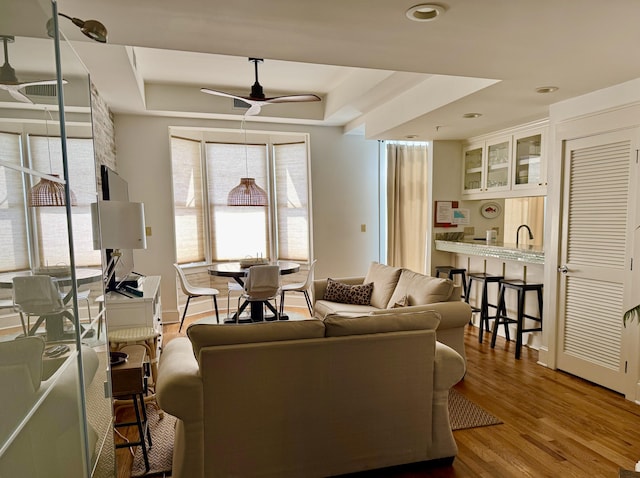
[[[256,324],[196,322],[187,328],[187,336],[191,340],[193,353],[199,360],[200,349],[203,347],[324,337],[324,324],[317,319]]]

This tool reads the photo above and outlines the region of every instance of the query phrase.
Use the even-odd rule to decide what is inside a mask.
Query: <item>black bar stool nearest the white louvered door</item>
[[[522,350],[522,334],[527,332],[539,332],[542,330],[542,284],[540,283],[527,283],[523,280],[501,280],[500,292],[498,293],[498,315],[493,323],[493,333],[491,335],[491,348],[496,345],[496,337],[498,335],[498,326],[504,324],[505,336],[507,341],[509,337],[509,325],[516,324],[516,359],[520,358],[520,352]],[[507,306],[504,300],[504,293],[507,289],[513,289],[518,293],[518,310],[517,317],[511,318],[507,315]],[[538,317],[525,313],[525,296],[527,292],[536,292],[538,297]],[[539,327],[524,328],[524,319],[530,319],[538,322]]]

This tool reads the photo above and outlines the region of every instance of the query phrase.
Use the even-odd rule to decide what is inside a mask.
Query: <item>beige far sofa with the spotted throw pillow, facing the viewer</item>
[[[372,262],[364,277],[333,279],[348,286],[373,284],[368,304],[353,304],[327,300],[330,279],[313,282],[313,314],[319,319],[339,314],[361,316],[384,314],[390,309],[403,312],[433,310],[441,316],[436,330],[439,342],[458,352],[466,361],[464,329],[471,320],[471,307],[460,299],[460,286],[449,279],[425,276],[409,269]],[[356,297],[359,294],[356,294]],[[348,293],[342,294],[348,301]],[[357,301],[357,299],[356,299]]]

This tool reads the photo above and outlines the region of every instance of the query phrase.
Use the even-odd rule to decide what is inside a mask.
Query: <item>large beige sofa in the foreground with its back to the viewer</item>
[[[435,312],[192,324],[160,358],[174,478],[324,477],[453,460],[465,372]]]

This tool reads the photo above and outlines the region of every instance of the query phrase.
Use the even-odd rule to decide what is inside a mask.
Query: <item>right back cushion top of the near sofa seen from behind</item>
[[[403,330],[435,330],[439,323],[440,314],[433,310],[410,313],[385,310],[360,317],[332,314],[324,319],[327,337],[381,334]]]

